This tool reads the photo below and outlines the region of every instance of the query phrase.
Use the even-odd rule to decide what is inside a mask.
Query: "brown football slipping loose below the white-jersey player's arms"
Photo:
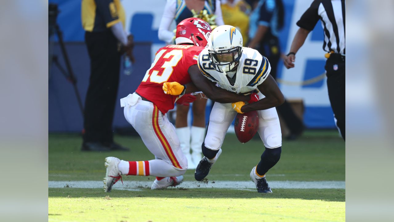
[[[255,136],[258,129],[257,111],[238,113],[235,117],[235,135],[241,143],[246,143]]]

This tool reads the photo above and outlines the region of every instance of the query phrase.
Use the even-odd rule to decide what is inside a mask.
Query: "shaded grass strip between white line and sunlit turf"
[[[185,189],[172,188],[167,190],[150,190],[138,188],[139,191],[112,190],[110,193],[102,189],[87,188],[49,188],[48,197],[51,198],[281,198],[281,199],[306,199],[322,201],[345,201],[344,189],[275,189],[272,194],[260,194],[249,190],[230,189]]]

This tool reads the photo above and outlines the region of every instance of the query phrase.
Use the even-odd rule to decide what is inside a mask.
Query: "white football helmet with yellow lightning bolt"
[[[241,32],[230,25],[215,28],[208,40],[208,53],[212,66],[216,71],[234,71],[242,54]]]

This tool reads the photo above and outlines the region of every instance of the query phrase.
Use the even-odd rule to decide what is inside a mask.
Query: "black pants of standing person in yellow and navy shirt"
[[[84,110],[84,143],[112,143],[112,121],[119,85],[120,54],[111,30],[85,32],[90,79]]]

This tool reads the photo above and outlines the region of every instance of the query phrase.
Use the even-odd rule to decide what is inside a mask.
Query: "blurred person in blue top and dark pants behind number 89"
[[[284,7],[282,0],[254,0],[253,12],[250,17],[248,47],[257,49],[268,58],[271,64],[271,76],[276,80],[278,62],[281,57],[279,31],[284,25]],[[294,113],[290,103],[276,107],[286,126],[290,130],[287,139],[297,139],[304,130],[304,124]]]

